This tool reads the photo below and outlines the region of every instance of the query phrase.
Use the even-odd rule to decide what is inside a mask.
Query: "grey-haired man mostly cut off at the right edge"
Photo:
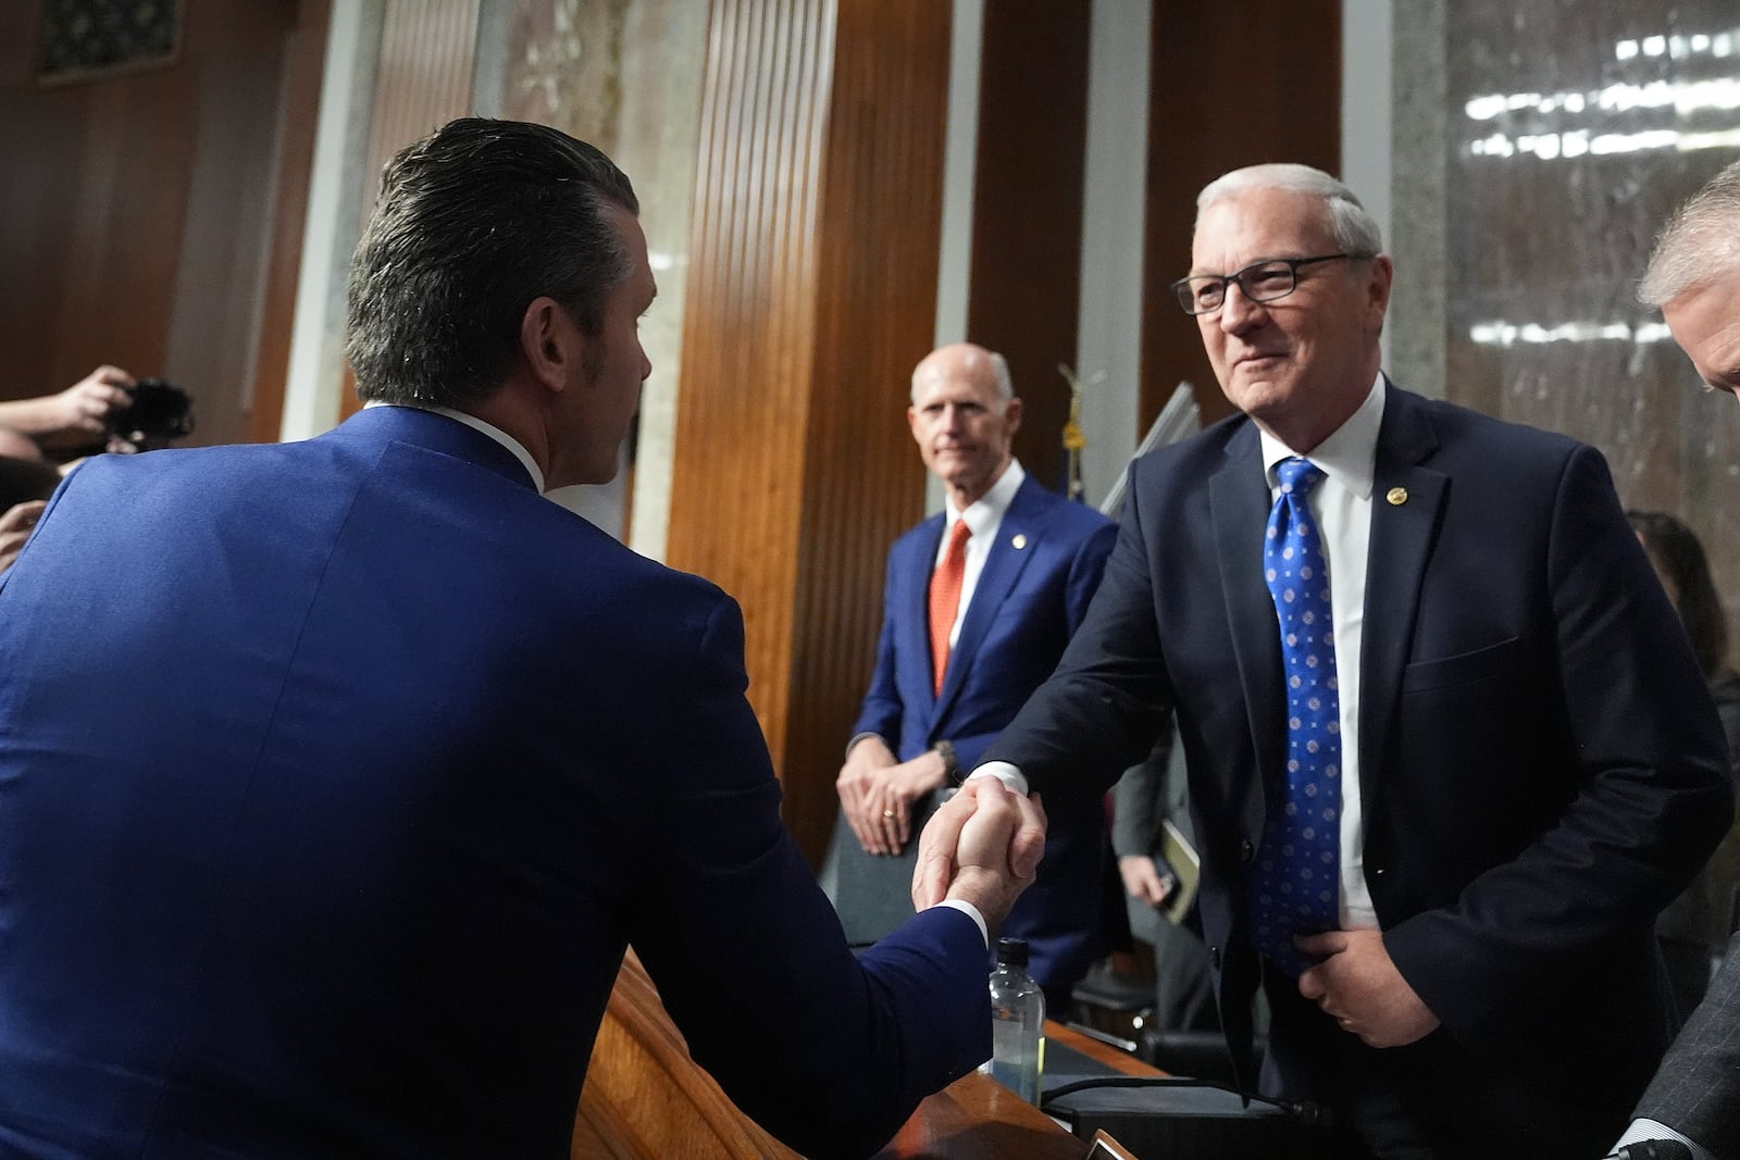
[[[1740,395],[1740,162],[1669,219],[1637,297],[1662,308],[1703,390]],[[1684,1141],[1698,1160],[1740,1157],[1740,937],[1620,1143],[1660,1137]]]

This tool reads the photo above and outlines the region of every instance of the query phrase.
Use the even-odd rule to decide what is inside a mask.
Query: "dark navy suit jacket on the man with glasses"
[[[1721,725],[1597,452],[1390,388],[1375,468],[1366,880],[1390,957],[1442,1021],[1385,1059],[1453,1061],[1460,1078],[1430,1097],[1444,1117],[1582,1137],[1522,1141],[1529,1155],[1599,1155],[1674,1031],[1653,923],[1731,819]],[[1082,630],[987,753],[1047,805],[1096,797],[1176,706],[1202,925],[1246,1077],[1248,866],[1286,746],[1268,508],[1242,416],[1133,464]],[[1277,1061],[1279,1085],[1317,1096],[1326,1057],[1277,1028]]]

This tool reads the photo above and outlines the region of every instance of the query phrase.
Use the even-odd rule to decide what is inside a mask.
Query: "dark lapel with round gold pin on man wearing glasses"
[[[1434,450],[1437,435],[1420,400],[1389,386],[1373,464],[1359,659],[1359,795],[1368,817],[1376,814],[1383,793],[1378,769],[1395,718],[1425,565],[1449,485],[1446,475],[1420,466]]]

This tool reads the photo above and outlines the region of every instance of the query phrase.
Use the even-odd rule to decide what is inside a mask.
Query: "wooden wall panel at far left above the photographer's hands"
[[[193,391],[188,442],[247,437],[266,223],[292,148],[278,78],[303,7],[188,0],[172,63],[44,87],[42,5],[0,5],[0,397],[113,362]]]

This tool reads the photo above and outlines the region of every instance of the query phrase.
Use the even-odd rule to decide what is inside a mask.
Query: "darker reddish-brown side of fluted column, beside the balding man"
[[[786,769],[809,779],[788,776],[788,817],[807,837],[837,816],[887,548],[922,515],[907,405],[936,332],[948,42],[945,3],[840,5],[786,743]]]

